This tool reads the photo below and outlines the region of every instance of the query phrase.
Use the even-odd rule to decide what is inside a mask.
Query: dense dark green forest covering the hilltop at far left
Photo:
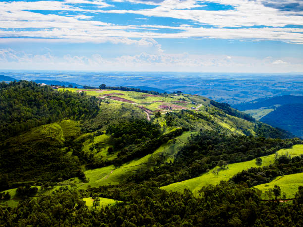
[[[0,83],[0,141],[66,117],[87,118],[99,111],[98,100],[83,92],[56,91],[19,81]]]

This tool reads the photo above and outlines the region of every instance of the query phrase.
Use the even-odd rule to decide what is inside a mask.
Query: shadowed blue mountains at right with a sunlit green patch
[[[283,95],[233,105],[261,122],[303,137],[303,96]]]

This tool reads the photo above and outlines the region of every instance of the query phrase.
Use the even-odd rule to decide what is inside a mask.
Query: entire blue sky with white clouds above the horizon
[[[0,69],[303,72],[303,0],[1,0]]]

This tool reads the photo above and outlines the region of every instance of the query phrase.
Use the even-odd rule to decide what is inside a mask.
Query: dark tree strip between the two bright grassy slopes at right
[[[275,177],[303,172],[303,156],[293,158],[282,155],[275,164],[264,167],[252,167],[233,176],[230,181],[245,182],[249,187],[271,182]]]

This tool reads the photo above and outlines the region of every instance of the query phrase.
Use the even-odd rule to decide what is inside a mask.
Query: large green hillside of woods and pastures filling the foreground
[[[252,187],[303,172],[300,139],[205,97],[0,85],[1,226],[249,225],[283,209]]]

